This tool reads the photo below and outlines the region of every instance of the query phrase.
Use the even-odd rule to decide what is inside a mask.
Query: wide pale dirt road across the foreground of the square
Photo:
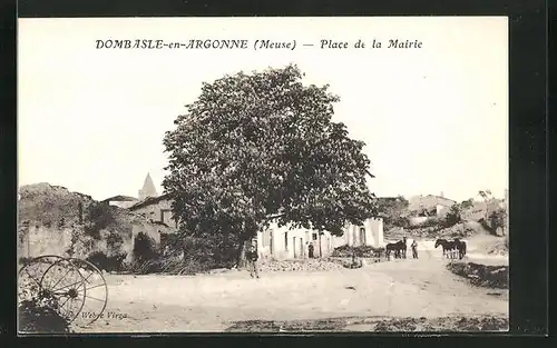
[[[107,276],[104,318],[81,332],[224,331],[243,320],[508,316],[507,290],[471,286],[423,255],[324,272]]]

